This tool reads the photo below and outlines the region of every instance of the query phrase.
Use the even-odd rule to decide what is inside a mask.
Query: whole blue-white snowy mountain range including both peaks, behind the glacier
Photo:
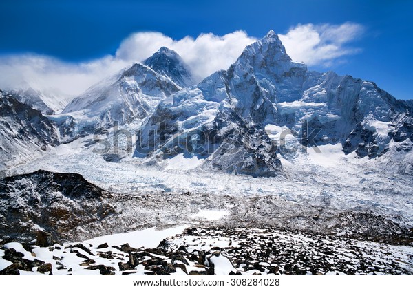
[[[273,31],[248,45],[229,69],[196,87],[191,83],[182,58],[161,47],[143,64],[87,89],[62,114],[48,116],[54,126],[50,144],[137,120],[142,127],[134,156],[147,164],[181,155],[195,167],[271,176],[282,171],[280,156],[301,159],[302,147],[322,151],[339,144],[343,155],[377,158],[388,152],[388,162],[397,156],[402,165],[398,171],[413,171],[411,103],[370,81],[308,71]],[[36,93],[28,88],[12,96],[43,114],[61,105],[47,105]]]

